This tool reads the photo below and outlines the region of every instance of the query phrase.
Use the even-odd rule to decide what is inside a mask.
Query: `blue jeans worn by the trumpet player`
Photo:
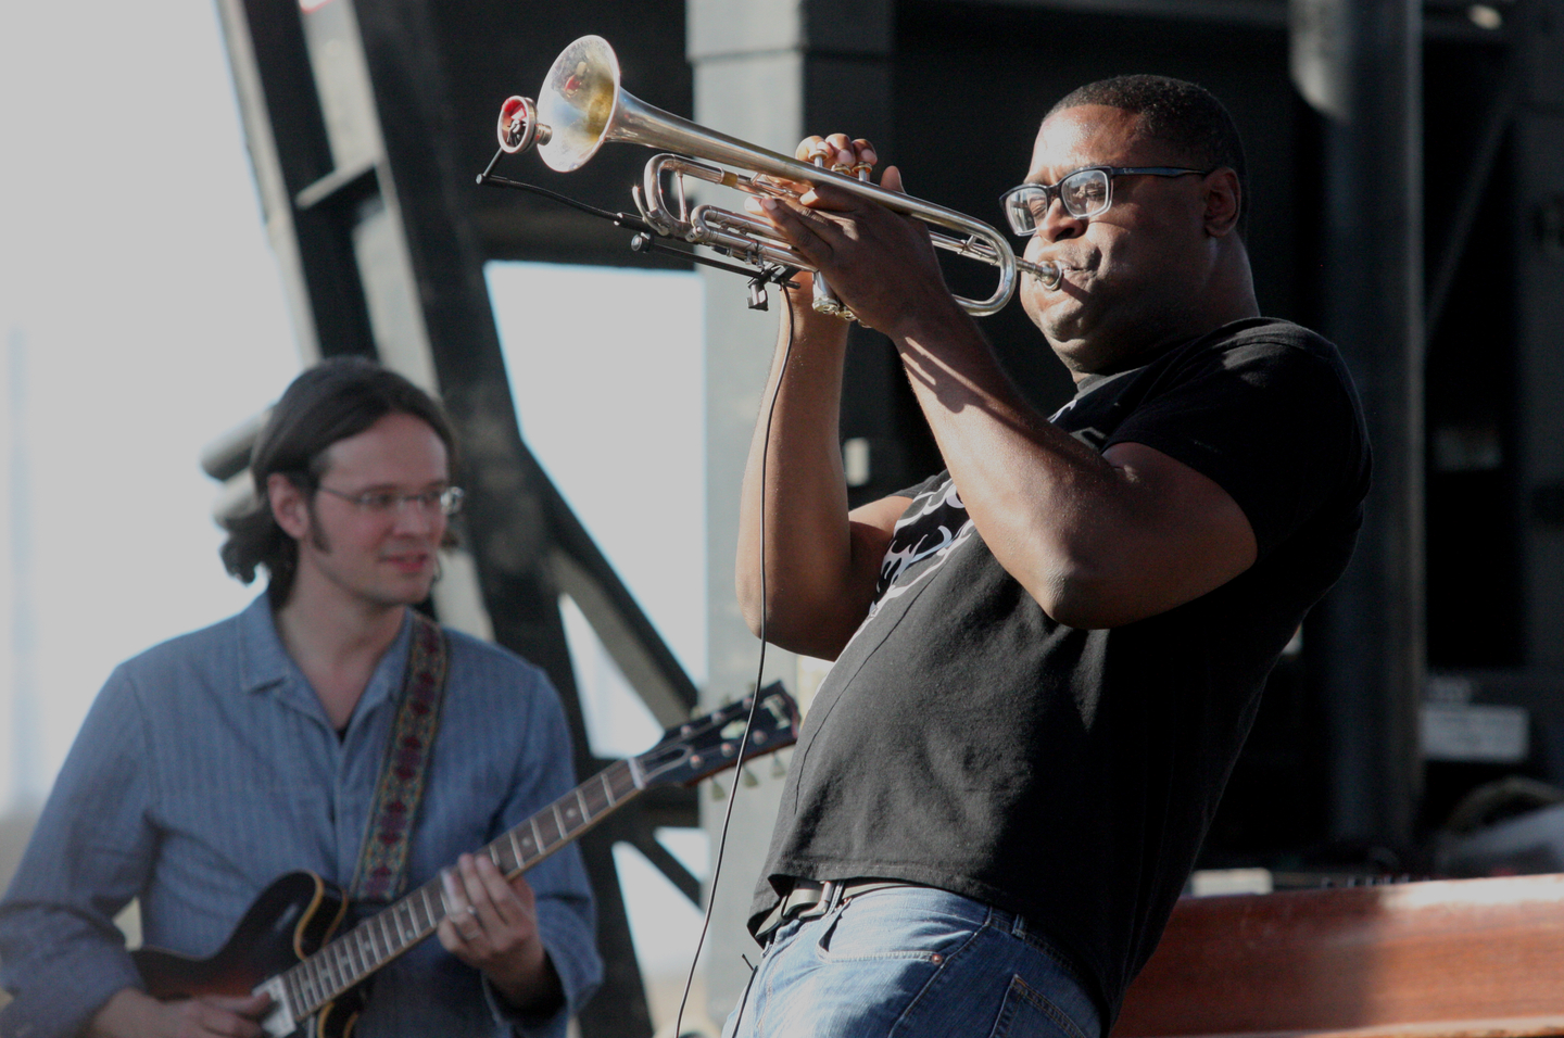
[[[1026,921],[927,886],[782,924],[723,1038],[1101,1038],[1096,1005]]]

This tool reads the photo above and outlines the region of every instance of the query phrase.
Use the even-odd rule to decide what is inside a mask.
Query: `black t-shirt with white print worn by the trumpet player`
[[[1078,630],[999,566],[948,474],[906,491],[873,610],[804,722],[752,925],[787,877],[938,886],[1026,916],[1112,1021],[1265,675],[1347,566],[1368,447],[1336,347],[1268,319],[1084,381],[1053,421],[1215,480],[1256,563],[1159,616]]]

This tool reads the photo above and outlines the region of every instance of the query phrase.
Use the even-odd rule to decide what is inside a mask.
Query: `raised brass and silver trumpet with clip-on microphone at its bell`
[[[496,134],[500,152],[515,155],[536,147],[543,161],[561,174],[585,166],[607,141],[658,149],[662,153],[646,163],[641,183],[632,188],[641,219],[658,234],[715,249],[755,267],[777,264],[815,272],[815,266],[777,238],[766,220],[708,203],[691,206],[685,177],[757,197],[793,199],[799,194],[790,186],[793,183],[830,183],[895,213],[918,217],[931,225],[929,238],[937,249],[998,267],[999,283],[992,295],[956,297],[962,310],[978,317],[1010,302],[1020,274],[1031,274],[1046,288],[1057,288],[1062,275],[1054,263],[1017,258],[999,231],[970,216],[787,158],[647,105],[619,84],[619,61],[601,36],[582,36],[566,47],[554,59],[536,100],[507,98]],[[821,286],[820,278],[816,286]],[[829,289],[816,292],[815,308],[851,316]]]

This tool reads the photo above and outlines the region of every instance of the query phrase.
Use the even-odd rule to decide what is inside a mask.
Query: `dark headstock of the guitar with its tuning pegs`
[[[749,743],[740,753],[751,702],[752,697],[746,696],[704,718],[668,728],[657,746],[635,758],[644,785],[690,785],[732,768],[740,760],[765,757],[798,741],[798,703],[782,688],[782,682],[773,682],[760,689],[760,707],[749,730]]]

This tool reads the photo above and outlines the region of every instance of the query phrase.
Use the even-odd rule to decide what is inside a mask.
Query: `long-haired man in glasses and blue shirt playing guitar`
[[[0,902],[14,994],[0,1033],[261,1033],[266,996],[145,994],[111,918],[136,897],[149,946],[200,960],[280,874],[355,886],[366,839],[386,835],[371,813],[410,607],[460,503],[454,460],[439,406],[372,363],[327,361],[288,388],[252,456],[261,503],[222,547],[246,583],[264,569],[267,592],[122,664],[99,694]],[[447,916],[438,943],[375,974],[352,1033],[563,1035],[602,971],[577,849],[510,882],[465,854],[574,786],[560,703],[491,644],[447,630],[443,653],[399,886],[439,875]]]

